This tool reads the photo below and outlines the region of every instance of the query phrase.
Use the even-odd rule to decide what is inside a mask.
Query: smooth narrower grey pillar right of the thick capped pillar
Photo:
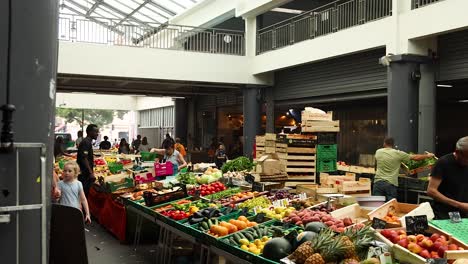
[[[436,83],[434,64],[421,64],[419,81],[419,140],[418,152],[435,152],[436,141]]]

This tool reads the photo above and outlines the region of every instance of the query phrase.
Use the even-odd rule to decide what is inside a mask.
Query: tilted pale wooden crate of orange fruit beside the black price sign
[[[404,216],[416,209],[418,205],[416,204],[407,204],[407,203],[399,203],[396,199],[392,199],[386,202],[384,205],[376,208],[372,212],[368,214],[369,220],[374,219],[377,217],[379,219],[385,220],[384,217],[387,216],[389,212],[393,213],[395,216],[399,218],[398,223],[389,223],[387,222],[387,228],[391,227],[401,227],[401,220],[404,221]]]

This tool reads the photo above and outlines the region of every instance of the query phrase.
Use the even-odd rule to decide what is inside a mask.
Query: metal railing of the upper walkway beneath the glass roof
[[[60,15],[58,39],[115,46],[245,55],[244,32],[171,24],[122,24],[106,18]]]

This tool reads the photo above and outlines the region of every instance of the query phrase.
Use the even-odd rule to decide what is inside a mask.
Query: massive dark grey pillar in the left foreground
[[[41,204],[41,183],[45,182],[47,211],[43,216],[47,221],[53,168],[57,18],[56,0],[0,1],[0,106],[7,103],[6,58],[9,56],[8,103],[16,107],[12,125],[14,140],[46,145],[45,172],[49,176],[38,178],[41,171],[37,149],[18,149],[18,156],[1,153],[0,207]],[[47,263],[48,247],[41,247],[41,242],[48,241],[49,226],[41,229],[41,211],[8,214],[10,223],[0,223],[0,262]]]

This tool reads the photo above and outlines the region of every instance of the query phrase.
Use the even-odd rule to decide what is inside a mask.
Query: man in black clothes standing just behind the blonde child
[[[86,195],[89,193],[91,185],[96,181],[94,177],[94,153],[93,140],[96,140],[99,135],[97,125],[91,124],[86,128],[86,138],[79,144],[78,155],[76,161],[80,166],[81,174],[78,180],[83,184],[83,189]]]

